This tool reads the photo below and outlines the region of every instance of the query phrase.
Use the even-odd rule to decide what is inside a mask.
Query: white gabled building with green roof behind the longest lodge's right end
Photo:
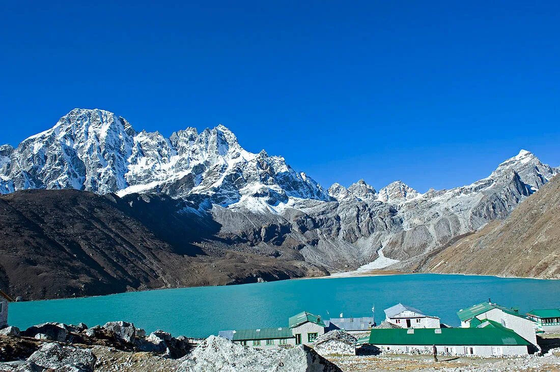
[[[483,302],[473,305],[467,309],[461,309],[457,312],[461,319],[461,327],[469,328],[474,322],[475,326],[479,326],[479,321],[494,321],[501,326],[512,329],[517,335],[529,341],[532,345],[536,344],[536,329],[538,324],[529,317],[521,314],[517,309],[510,309],[491,302]],[[474,320],[476,319],[476,320]]]

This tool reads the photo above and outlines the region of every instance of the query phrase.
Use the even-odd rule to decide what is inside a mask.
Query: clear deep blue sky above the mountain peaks
[[[560,164],[558,1],[119,3],[2,4],[0,143],[83,107],[222,123],[326,187]]]

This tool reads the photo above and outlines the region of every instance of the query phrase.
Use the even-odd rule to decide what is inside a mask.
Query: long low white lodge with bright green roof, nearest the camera
[[[486,326],[480,327],[486,323]],[[528,355],[531,343],[500,323],[484,321],[472,328],[372,329],[369,342],[389,354],[472,356]]]

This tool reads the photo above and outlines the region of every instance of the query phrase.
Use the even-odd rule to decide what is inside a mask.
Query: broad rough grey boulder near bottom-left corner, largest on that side
[[[41,346],[27,361],[56,371],[93,371],[97,358],[90,349],[50,342]]]

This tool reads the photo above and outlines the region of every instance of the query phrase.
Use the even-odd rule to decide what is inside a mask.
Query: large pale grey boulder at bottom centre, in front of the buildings
[[[342,372],[305,345],[259,350],[216,336],[208,337],[181,361],[178,372]]]

